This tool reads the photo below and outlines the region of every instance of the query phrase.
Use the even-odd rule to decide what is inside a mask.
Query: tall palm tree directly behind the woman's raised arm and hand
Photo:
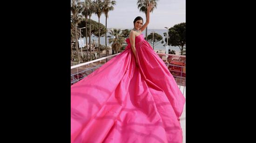
[[[149,3],[153,3],[153,7],[150,12],[153,12],[154,8],[157,8],[157,3],[156,1],[158,0],[138,0],[137,5],[138,9],[140,9],[140,12],[145,12],[146,18],[147,18],[147,5]],[[146,40],[148,41],[148,26],[146,27]]]

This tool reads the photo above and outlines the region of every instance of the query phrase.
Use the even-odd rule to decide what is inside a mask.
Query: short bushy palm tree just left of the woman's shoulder
[[[111,47],[113,50],[115,50],[116,52],[118,52],[120,50],[120,48],[122,47],[122,44],[124,43],[124,40],[125,38],[122,37],[122,34],[121,34],[121,30],[120,29],[113,29],[113,30],[110,30],[110,32],[108,32],[110,35],[112,36],[108,36],[110,37],[108,39],[108,43],[111,44]],[[111,37],[114,37],[114,38],[111,38]],[[114,53],[112,53],[113,55]]]

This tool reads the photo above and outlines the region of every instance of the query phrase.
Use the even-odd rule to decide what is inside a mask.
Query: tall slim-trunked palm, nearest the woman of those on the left
[[[105,30],[105,47],[106,47],[106,56],[108,56],[107,52],[107,19],[108,12],[114,10],[115,0],[104,0],[103,12],[106,17],[106,30]]]

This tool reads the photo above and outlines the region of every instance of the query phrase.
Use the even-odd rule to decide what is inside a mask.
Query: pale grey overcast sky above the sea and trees
[[[115,1],[114,10],[108,12],[108,28],[131,29],[137,16],[141,16],[143,21],[146,21],[145,13],[139,12],[137,8],[137,0]],[[95,14],[91,19],[98,22]],[[105,19],[105,15],[102,14],[100,23],[105,25]],[[186,0],[158,0],[157,8],[150,13],[148,29],[164,29],[182,22],[186,22]]]

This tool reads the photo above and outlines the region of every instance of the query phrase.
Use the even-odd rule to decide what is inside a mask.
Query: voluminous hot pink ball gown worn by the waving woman
[[[126,49],[71,86],[71,143],[182,143],[185,98],[162,59],[135,37]]]

